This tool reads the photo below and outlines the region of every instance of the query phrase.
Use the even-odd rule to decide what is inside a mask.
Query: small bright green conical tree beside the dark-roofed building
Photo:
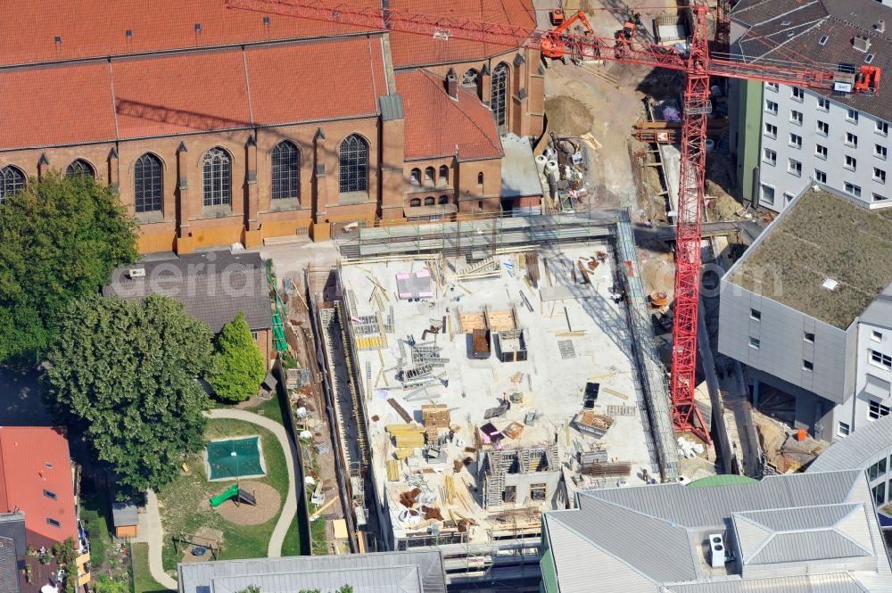
[[[267,375],[263,352],[251,337],[251,328],[239,311],[223,326],[217,338],[216,368],[211,386],[222,399],[244,401],[257,393]]]

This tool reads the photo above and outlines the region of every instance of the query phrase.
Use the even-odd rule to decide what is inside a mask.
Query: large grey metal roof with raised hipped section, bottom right
[[[578,585],[568,590],[583,591],[582,572],[603,571],[615,579],[609,587],[602,587],[599,579],[603,593],[648,590],[630,584],[642,577],[665,585],[667,593],[892,593],[888,555],[876,517],[866,510],[870,497],[861,470],[772,476],[714,488],[673,483],[582,491],[578,508],[546,513],[545,523],[562,593],[565,579]],[[739,564],[728,564],[729,572],[715,577],[703,564],[701,542],[710,532],[727,531],[729,521],[735,528],[728,535],[729,546],[739,544],[746,564],[776,564],[776,569],[768,568],[770,573],[797,563],[810,574],[840,574],[772,580],[764,579],[762,568],[756,574],[763,579],[753,579],[753,572],[743,579],[735,573]],[[835,562],[827,563],[829,559]],[[845,571],[876,587],[860,587]],[[880,584],[883,575],[890,577],[888,585]],[[714,589],[688,587],[714,578],[722,581]]]

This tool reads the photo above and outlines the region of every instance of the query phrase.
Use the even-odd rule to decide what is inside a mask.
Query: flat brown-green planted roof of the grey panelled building
[[[733,284],[847,328],[892,283],[892,209],[805,190],[728,276]],[[822,287],[827,280],[838,285]]]

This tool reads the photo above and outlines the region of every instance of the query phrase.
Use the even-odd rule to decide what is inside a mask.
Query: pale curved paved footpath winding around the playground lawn
[[[231,420],[242,420],[257,424],[272,432],[285,451],[285,465],[288,468],[288,494],[285,495],[285,504],[282,506],[282,514],[279,515],[276,528],[269,538],[269,546],[267,548],[267,556],[277,558],[282,556],[282,543],[285,541],[285,534],[294,517],[297,515],[297,496],[296,496],[296,479],[294,477],[294,459],[296,452],[293,449],[291,441],[288,439],[288,433],[285,432],[285,426],[278,424],[274,420],[270,420],[265,416],[254,414],[240,409],[213,409],[205,412],[205,416],[209,418],[229,418]],[[158,497],[152,490],[149,490],[145,502],[145,525],[140,524],[140,538],[149,544],[149,572],[152,578],[158,581],[158,584],[167,588],[177,590],[177,581],[171,579],[164,572],[164,566],[161,562],[161,549],[164,546],[164,532],[161,528],[161,513],[158,510]]]

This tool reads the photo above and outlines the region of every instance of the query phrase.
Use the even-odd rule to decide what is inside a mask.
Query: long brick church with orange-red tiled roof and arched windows
[[[138,219],[141,251],[180,253],[540,203],[500,196],[500,135],[542,132],[538,51],[223,0],[4,4],[0,199],[50,169],[94,175]],[[450,11],[535,23],[528,0]]]

